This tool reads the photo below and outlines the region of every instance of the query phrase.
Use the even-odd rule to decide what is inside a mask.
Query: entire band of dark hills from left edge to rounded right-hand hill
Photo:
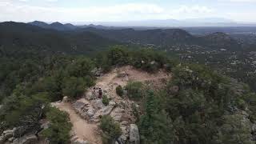
[[[97,26],[96,26],[97,27]],[[102,26],[101,26],[102,27]],[[63,31],[65,30],[65,31]],[[0,47],[5,50],[30,49],[69,54],[87,54],[104,50],[110,45],[130,43],[159,48],[198,45],[219,50],[242,50],[239,43],[224,33],[195,36],[181,29],[101,29],[90,26],[75,27],[54,22],[2,22]]]

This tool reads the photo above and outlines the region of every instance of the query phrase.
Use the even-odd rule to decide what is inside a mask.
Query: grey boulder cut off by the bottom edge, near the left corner
[[[34,144],[38,143],[38,138],[34,134],[27,134],[21,138],[14,139],[13,144]]]

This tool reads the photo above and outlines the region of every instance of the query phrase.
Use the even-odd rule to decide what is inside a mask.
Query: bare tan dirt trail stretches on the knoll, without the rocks
[[[125,77],[118,77],[118,74],[125,72],[127,75]],[[145,71],[136,70],[132,66],[123,66],[118,69],[114,69],[110,71],[108,74],[104,74],[98,78],[96,81],[96,87],[101,87],[103,91],[106,92],[111,98],[114,98],[116,102],[122,101],[123,99],[118,97],[115,92],[115,87],[118,85],[126,86],[128,81],[139,81],[139,82],[146,82],[146,81],[154,81],[158,82],[159,79],[162,78],[169,78],[170,75],[166,74],[162,70],[160,70],[156,74],[149,74]],[[92,88],[90,88],[92,90]],[[89,91],[87,93],[89,93]],[[81,98],[78,101],[87,101],[85,98]],[[129,102],[131,102],[128,99]],[[70,114],[70,121],[73,124],[73,131],[76,137],[79,139],[86,140],[93,144],[102,144],[101,136],[97,134],[98,126],[97,124],[89,124],[81,118],[71,106],[70,103],[59,102],[57,107],[60,110],[66,111]]]

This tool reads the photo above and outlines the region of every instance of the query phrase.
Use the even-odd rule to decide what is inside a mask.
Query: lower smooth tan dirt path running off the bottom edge
[[[70,122],[73,124],[72,130],[76,137],[93,144],[102,144],[101,136],[97,133],[98,126],[96,124],[90,124],[82,119],[70,103],[60,102],[55,106],[70,114]]]

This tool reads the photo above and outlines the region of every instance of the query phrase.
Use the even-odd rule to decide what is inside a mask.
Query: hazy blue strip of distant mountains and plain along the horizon
[[[220,25],[212,25],[210,23],[218,22]],[[197,22],[204,22],[205,25],[198,26]],[[208,24],[206,25],[206,23]],[[238,24],[230,20],[222,18],[206,18],[206,19],[186,19],[181,21],[169,19],[169,20],[148,20],[140,22],[99,22],[103,25],[79,25],[75,26],[71,23],[62,24],[60,22],[46,23],[46,22],[28,22],[28,24],[33,26],[39,26],[45,29],[53,29],[59,31],[70,31],[79,30],[83,28],[93,27],[96,29],[103,30],[122,30],[126,28],[132,28],[134,30],[154,30],[154,29],[170,29],[170,28],[180,28],[190,32],[190,34],[212,34],[215,32],[223,32],[226,34],[256,34],[256,24]],[[182,25],[185,23],[185,25]],[[155,26],[154,26],[155,24]],[[230,25],[232,24],[232,25]]]

